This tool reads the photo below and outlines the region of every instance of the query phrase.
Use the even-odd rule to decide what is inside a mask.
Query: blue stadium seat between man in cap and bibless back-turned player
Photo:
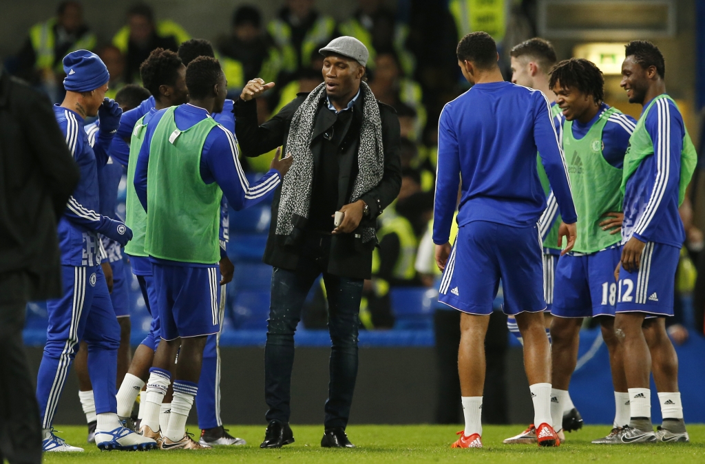
[[[393,288],[390,296],[395,329],[430,329],[433,326],[431,303],[438,298],[435,288]]]

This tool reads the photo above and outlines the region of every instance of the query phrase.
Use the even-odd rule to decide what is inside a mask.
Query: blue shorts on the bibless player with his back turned
[[[466,224],[443,271],[439,301],[468,314],[489,315],[501,280],[505,314],[543,311],[543,254],[537,226]]]

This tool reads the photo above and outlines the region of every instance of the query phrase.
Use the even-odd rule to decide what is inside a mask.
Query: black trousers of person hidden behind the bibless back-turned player
[[[459,424],[463,422],[458,376],[460,311],[436,310],[434,331],[438,367],[436,423]],[[482,422],[485,424],[508,423],[504,375],[507,335],[507,317],[501,312],[493,311],[485,336],[486,372],[482,400]]]

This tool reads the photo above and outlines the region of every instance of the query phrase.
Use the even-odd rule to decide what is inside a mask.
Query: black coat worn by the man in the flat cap
[[[240,149],[247,157],[257,157],[284,145],[289,134],[291,118],[296,109],[306,99],[306,93],[300,93],[290,104],[279,111],[262,126],[257,126],[257,103],[255,100],[235,102],[235,133],[240,143]],[[341,156],[338,157],[338,209],[350,200],[350,191],[357,178],[357,148],[360,144],[360,126],[362,123],[362,96],[353,107],[353,123],[341,144]],[[314,156],[314,176],[317,176],[317,166],[320,164],[323,149],[323,135],[336,121],[335,114],[327,107],[326,98],[319,102],[319,111],[314,123],[311,149]],[[362,219],[360,227],[376,226],[379,214],[399,194],[401,188],[401,164],[399,157],[400,135],[399,119],[391,106],[379,103],[379,113],[382,121],[382,143],[384,145],[384,175],[376,187],[362,195],[361,200],[369,205],[369,217]],[[278,215],[281,187],[276,190],[271,206],[271,225],[269,238],[264,250],[264,262],[283,269],[296,269],[299,248],[296,245],[285,245],[286,237],[276,236],[276,219]],[[292,236],[301,235],[294,229]],[[298,240],[300,241],[300,240]],[[331,238],[331,250],[328,271],[336,276],[353,279],[369,279],[372,270],[372,250],[376,240],[362,243],[355,232],[336,235]]]

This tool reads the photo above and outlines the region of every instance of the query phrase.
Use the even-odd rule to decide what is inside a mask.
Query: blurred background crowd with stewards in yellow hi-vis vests
[[[269,22],[255,4],[239,4],[231,12],[230,30],[197,37],[212,42],[228,79],[229,97],[236,99],[255,77],[276,83],[257,100],[260,123],[298,92],[310,92],[323,81],[318,50],[332,38],[351,35],[369,49],[367,82],[376,98],[393,106],[399,117],[403,185],[380,219],[374,277],[365,286],[361,310],[367,329],[394,326],[393,288],[430,288],[439,276],[427,235],[433,212],[437,121],[443,104],[468,88],[458,69],[455,45],[473,30],[489,32],[500,44],[501,68],[510,80],[509,51],[536,35],[535,16],[532,0],[401,0],[396,9],[382,0],[357,0],[353,16],[336,21],[317,11],[314,0],[286,0]],[[142,3],[126,6],[125,24],[113,35],[106,32],[112,31],[92,30],[79,1],[63,1],[55,16],[30,28],[23,47],[6,59],[5,66],[61,102],[61,59],[75,49],[89,49],[106,63],[108,95],[114,97],[124,85],[140,83],[140,63],[153,49],[176,51],[180,43],[194,38],[169,18],[168,9],[157,12]],[[250,172],[263,172],[273,156],[243,157],[242,162]],[[694,285],[694,267],[690,263],[686,268],[683,272],[689,274],[681,279],[682,288],[688,290]],[[324,292],[321,286],[312,298],[304,319],[307,327],[325,326]],[[687,332],[675,336],[685,339]]]

